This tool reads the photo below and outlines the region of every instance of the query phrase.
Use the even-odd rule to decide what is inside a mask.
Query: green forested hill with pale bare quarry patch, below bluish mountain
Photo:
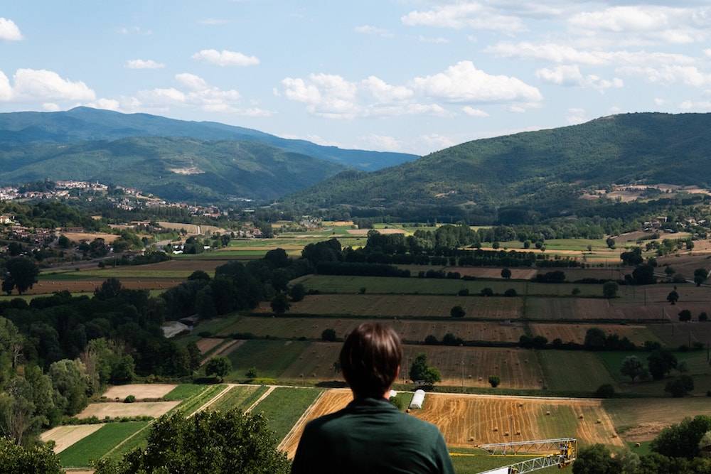
[[[0,184],[82,180],[139,188],[169,200],[270,200],[343,166],[253,141],[141,137],[0,149]]]

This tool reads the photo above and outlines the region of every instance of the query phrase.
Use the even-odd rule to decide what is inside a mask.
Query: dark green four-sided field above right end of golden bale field
[[[602,384],[616,385],[598,352],[540,350],[536,354],[550,390],[589,394]]]

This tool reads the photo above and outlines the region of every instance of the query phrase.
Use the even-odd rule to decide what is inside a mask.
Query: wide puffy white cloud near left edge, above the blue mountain
[[[12,96],[19,100],[93,100],[96,95],[82,81],[64,79],[44,69],[18,69],[13,77]]]

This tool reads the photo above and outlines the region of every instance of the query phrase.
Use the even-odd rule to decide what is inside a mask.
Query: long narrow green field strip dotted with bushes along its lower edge
[[[304,284],[306,289],[321,293],[358,293],[360,289],[365,288],[366,293],[454,295],[461,289],[469,289],[469,293],[479,294],[484,288],[491,288],[494,293],[503,293],[513,288],[521,296],[570,296],[572,290],[578,288],[581,291],[580,296],[602,295],[602,285],[544,284],[501,279],[467,281],[416,277],[307,275],[292,281],[297,282]]]

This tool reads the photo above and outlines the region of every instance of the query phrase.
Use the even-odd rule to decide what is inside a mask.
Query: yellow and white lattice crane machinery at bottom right
[[[525,474],[552,466],[558,466],[558,468],[562,469],[570,465],[577,455],[576,438],[512,441],[510,443],[480,444],[478,447],[492,456],[543,455],[479,474]]]

